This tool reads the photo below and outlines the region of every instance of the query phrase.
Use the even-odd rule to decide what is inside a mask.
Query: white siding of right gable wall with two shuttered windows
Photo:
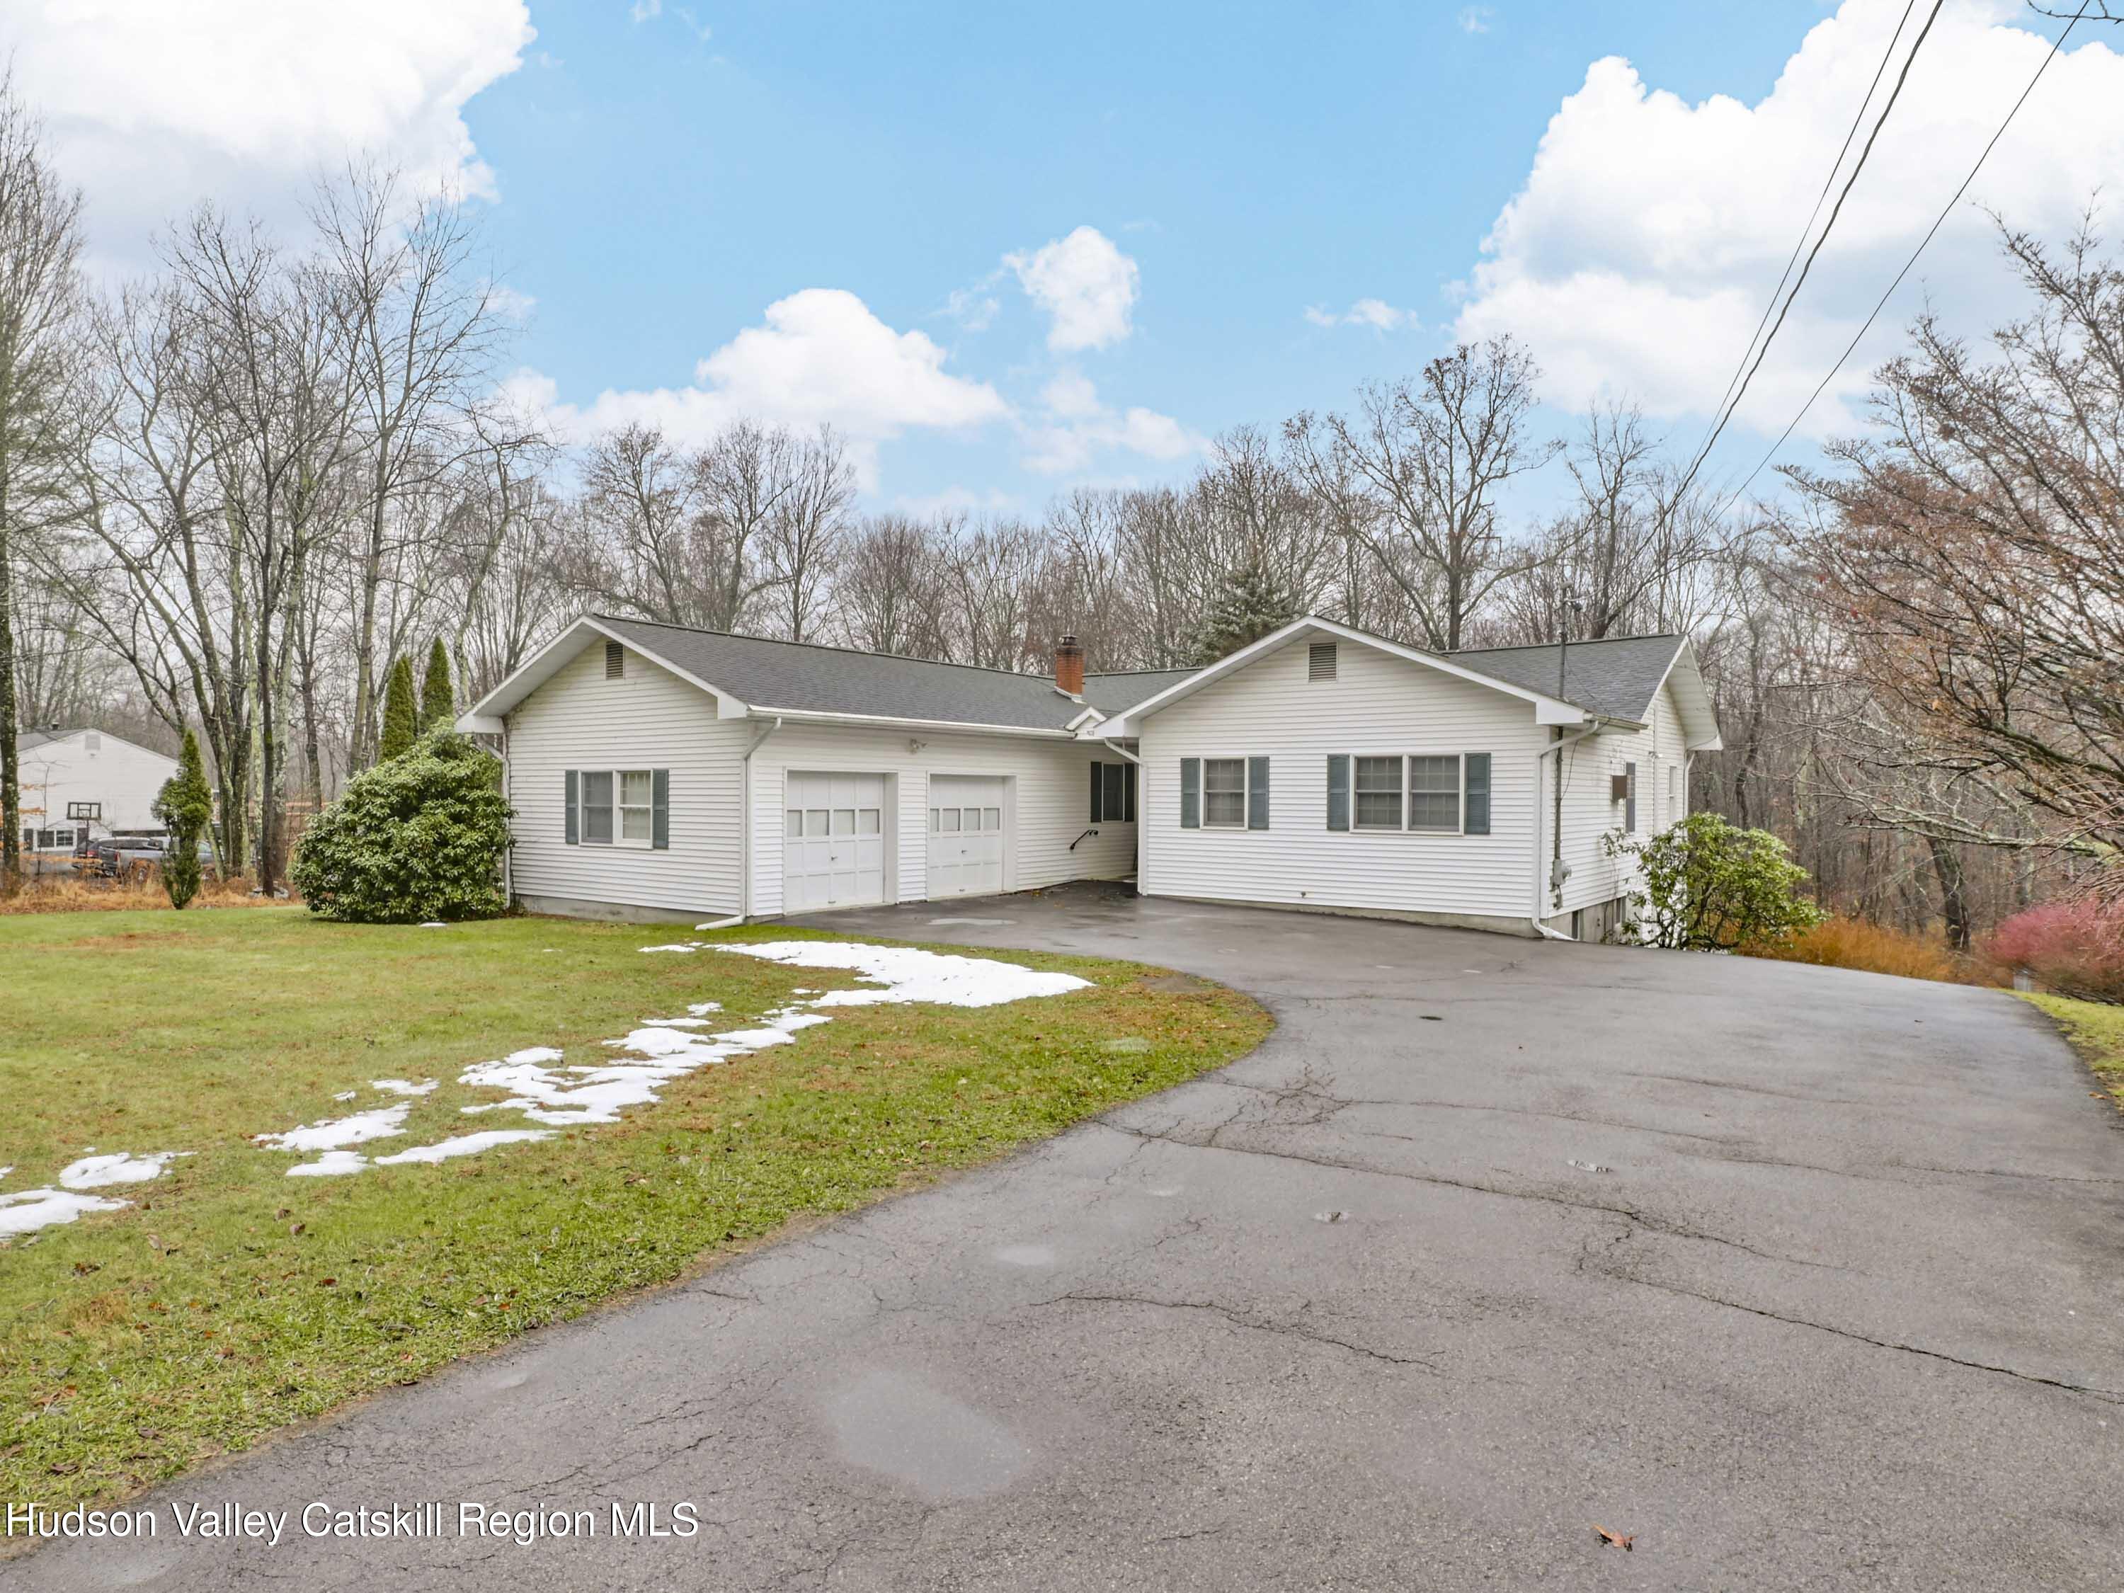
[[[1304,641],[1143,722],[1141,888],[1158,896],[1525,922],[1534,896],[1534,705],[1370,646],[1336,648],[1313,680]],[[1408,758],[1487,752],[1489,835],[1408,830]],[[1181,828],[1181,758],[1268,756],[1268,835]],[[1351,828],[1328,828],[1328,758],[1351,758]],[[1372,758],[1378,758],[1374,765]],[[1427,794],[1427,792],[1425,792]],[[1206,799],[1204,799],[1206,801]],[[1459,796],[1453,799],[1461,807]]]

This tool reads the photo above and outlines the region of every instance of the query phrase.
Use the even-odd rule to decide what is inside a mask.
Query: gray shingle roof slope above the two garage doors
[[[595,618],[641,652],[720,686],[750,707],[871,714],[943,724],[1007,724],[1022,731],[1062,731],[1083,714],[1083,705],[1058,692],[1047,675],[901,658],[813,641],[692,631],[612,614]],[[1085,675],[1083,695],[1102,714],[1117,714],[1189,673],[1194,671]]]

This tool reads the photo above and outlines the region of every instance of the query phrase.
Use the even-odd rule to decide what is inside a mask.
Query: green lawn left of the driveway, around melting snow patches
[[[1268,1015],[1126,962],[994,954],[1092,990],[837,1009],[599,1128],[482,1155],[287,1177],[251,1145],[440,1079],[389,1153],[527,1128],[457,1075],[569,1062],[720,1000],[731,1028],[850,973],[699,952],[661,928],[518,918],[353,928],[289,911],[0,918],[0,1192],[98,1151],[193,1151],[125,1211],[0,1240],[0,1497],[108,1500],[363,1391],[665,1283],[794,1217],[939,1170],[1240,1056]],[[750,928],[699,939],[803,939]],[[824,937],[820,937],[824,939]],[[1124,1045],[1109,1045],[1124,1041]],[[582,1047],[582,1049],[578,1049]],[[336,1102],[355,1090],[359,1096]]]

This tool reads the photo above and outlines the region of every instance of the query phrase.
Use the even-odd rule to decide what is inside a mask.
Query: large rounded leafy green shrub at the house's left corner
[[[312,913],[348,924],[495,918],[510,845],[497,765],[455,731],[423,735],[310,820],[289,879]]]

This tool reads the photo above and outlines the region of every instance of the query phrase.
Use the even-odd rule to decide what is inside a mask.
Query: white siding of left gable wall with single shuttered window
[[[607,678],[601,646],[563,665],[508,724],[508,796],[516,809],[510,886],[518,896],[703,918],[737,911],[737,765],[754,724],[718,720],[714,697],[639,652],[627,656],[618,680]],[[586,788],[599,771],[607,782],[618,775],[614,799],[629,796],[627,771],[669,769],[671,845],[567,845],[569,769],[582,771]],[[614,801],[610,811],[622,835],[629,805]],[[780,822],[780,809],[773,818]]]

